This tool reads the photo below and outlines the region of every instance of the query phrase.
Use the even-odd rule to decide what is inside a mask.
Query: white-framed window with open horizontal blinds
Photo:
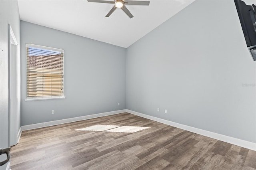
[[[26,43],[27,100],[64,97],[64,50]]]

